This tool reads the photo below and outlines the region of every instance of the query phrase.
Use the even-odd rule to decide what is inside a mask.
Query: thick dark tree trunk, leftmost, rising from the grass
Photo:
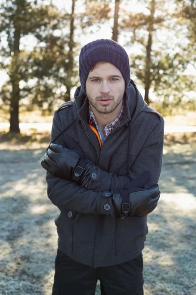
[[[20,77],[19,77],[19,67],[18,67],[18,57],[20,53],[20,38],[21,38],[21,25],[20,25],[20,15],[22,8],[24,7],[24,0],[17,0],[17,9],[14,20],[14,44],[13,44],[13,57],[12,57],[12,74],[10,76],[12,84],[11,102],[10,102],[10,133],[20,133],[19,128],[19,100],[20,100]]]

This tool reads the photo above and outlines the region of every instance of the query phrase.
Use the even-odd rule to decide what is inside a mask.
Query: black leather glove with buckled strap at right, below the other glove
[[[149,177],[150,172],[147,171],[130,181],[121,193],[113,194],[112,199],[116,209],[116,217],[142,217],[154,210],[161,194],[159,185],[155,184],[150,188],[141,188],[147,183]]]

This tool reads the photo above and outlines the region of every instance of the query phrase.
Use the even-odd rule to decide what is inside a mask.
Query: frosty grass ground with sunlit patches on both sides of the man
[[[51,295],[59,211],[47,197],[40,165],[47,137],[8,141],[1,133],[0,295]],[[148,216],[143,251],[145,295],[196,295],[194,142],[194,136],[166,136],[161,198]]]

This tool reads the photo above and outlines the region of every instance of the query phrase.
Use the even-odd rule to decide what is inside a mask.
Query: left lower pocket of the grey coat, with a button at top
[[[77,212],[67,209],[61,210],[59,216],[54,220],[57,227],[57,233],[64,245],[73,252],[73,227]]]

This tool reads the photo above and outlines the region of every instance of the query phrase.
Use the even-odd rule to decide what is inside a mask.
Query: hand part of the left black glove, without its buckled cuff
[[[41,165],[53,175],[72,179],[73,172],[80,158],[73,150],[51,143]]]

